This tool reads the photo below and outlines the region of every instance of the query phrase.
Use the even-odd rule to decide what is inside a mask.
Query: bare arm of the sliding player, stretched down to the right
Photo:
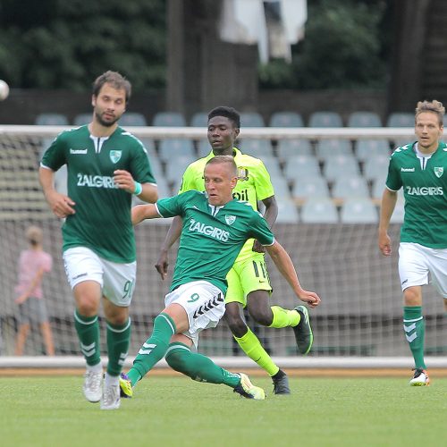
[[[296,296],[301,299],[301,301],[308,303],[311,308],[316,308],[316,306],[320,304],[320,297],[315,291],[305,291],[301,287],[295,266],[293,266],[291,257],[287,251],[283,249],[283,246],[275,240],[274,245],[266,247],[266,250],[270,257],[272,257],[274,265],[291,285],[291,289],[295,292]]]

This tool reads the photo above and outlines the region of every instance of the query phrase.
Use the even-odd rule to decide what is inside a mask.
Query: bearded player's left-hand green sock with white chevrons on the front
[[[87,365],[94,367],[101,361],[97,316],[82,316],[76,309],[74,311],[74,327],[78,333],[80,351],[84,355]]]

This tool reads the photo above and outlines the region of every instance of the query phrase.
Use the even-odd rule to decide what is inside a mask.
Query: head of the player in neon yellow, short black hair
[[[207,138],[215,155],[231,155],[240,131],[240,114],[221,105],[208,114]]]

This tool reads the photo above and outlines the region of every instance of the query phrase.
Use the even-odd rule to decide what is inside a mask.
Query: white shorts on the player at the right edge
[[[399,246],[402,291],[429,282],[447,299],[447,249],[430,249],[412,242]]]

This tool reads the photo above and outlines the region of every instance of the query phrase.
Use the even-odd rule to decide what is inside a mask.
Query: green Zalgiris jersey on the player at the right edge
[[[416,143],[392,153],[386,187],[403,188],[405,217],[402,242],[447,249],[447,146],[441,142],[430,157],[417,156]]]

